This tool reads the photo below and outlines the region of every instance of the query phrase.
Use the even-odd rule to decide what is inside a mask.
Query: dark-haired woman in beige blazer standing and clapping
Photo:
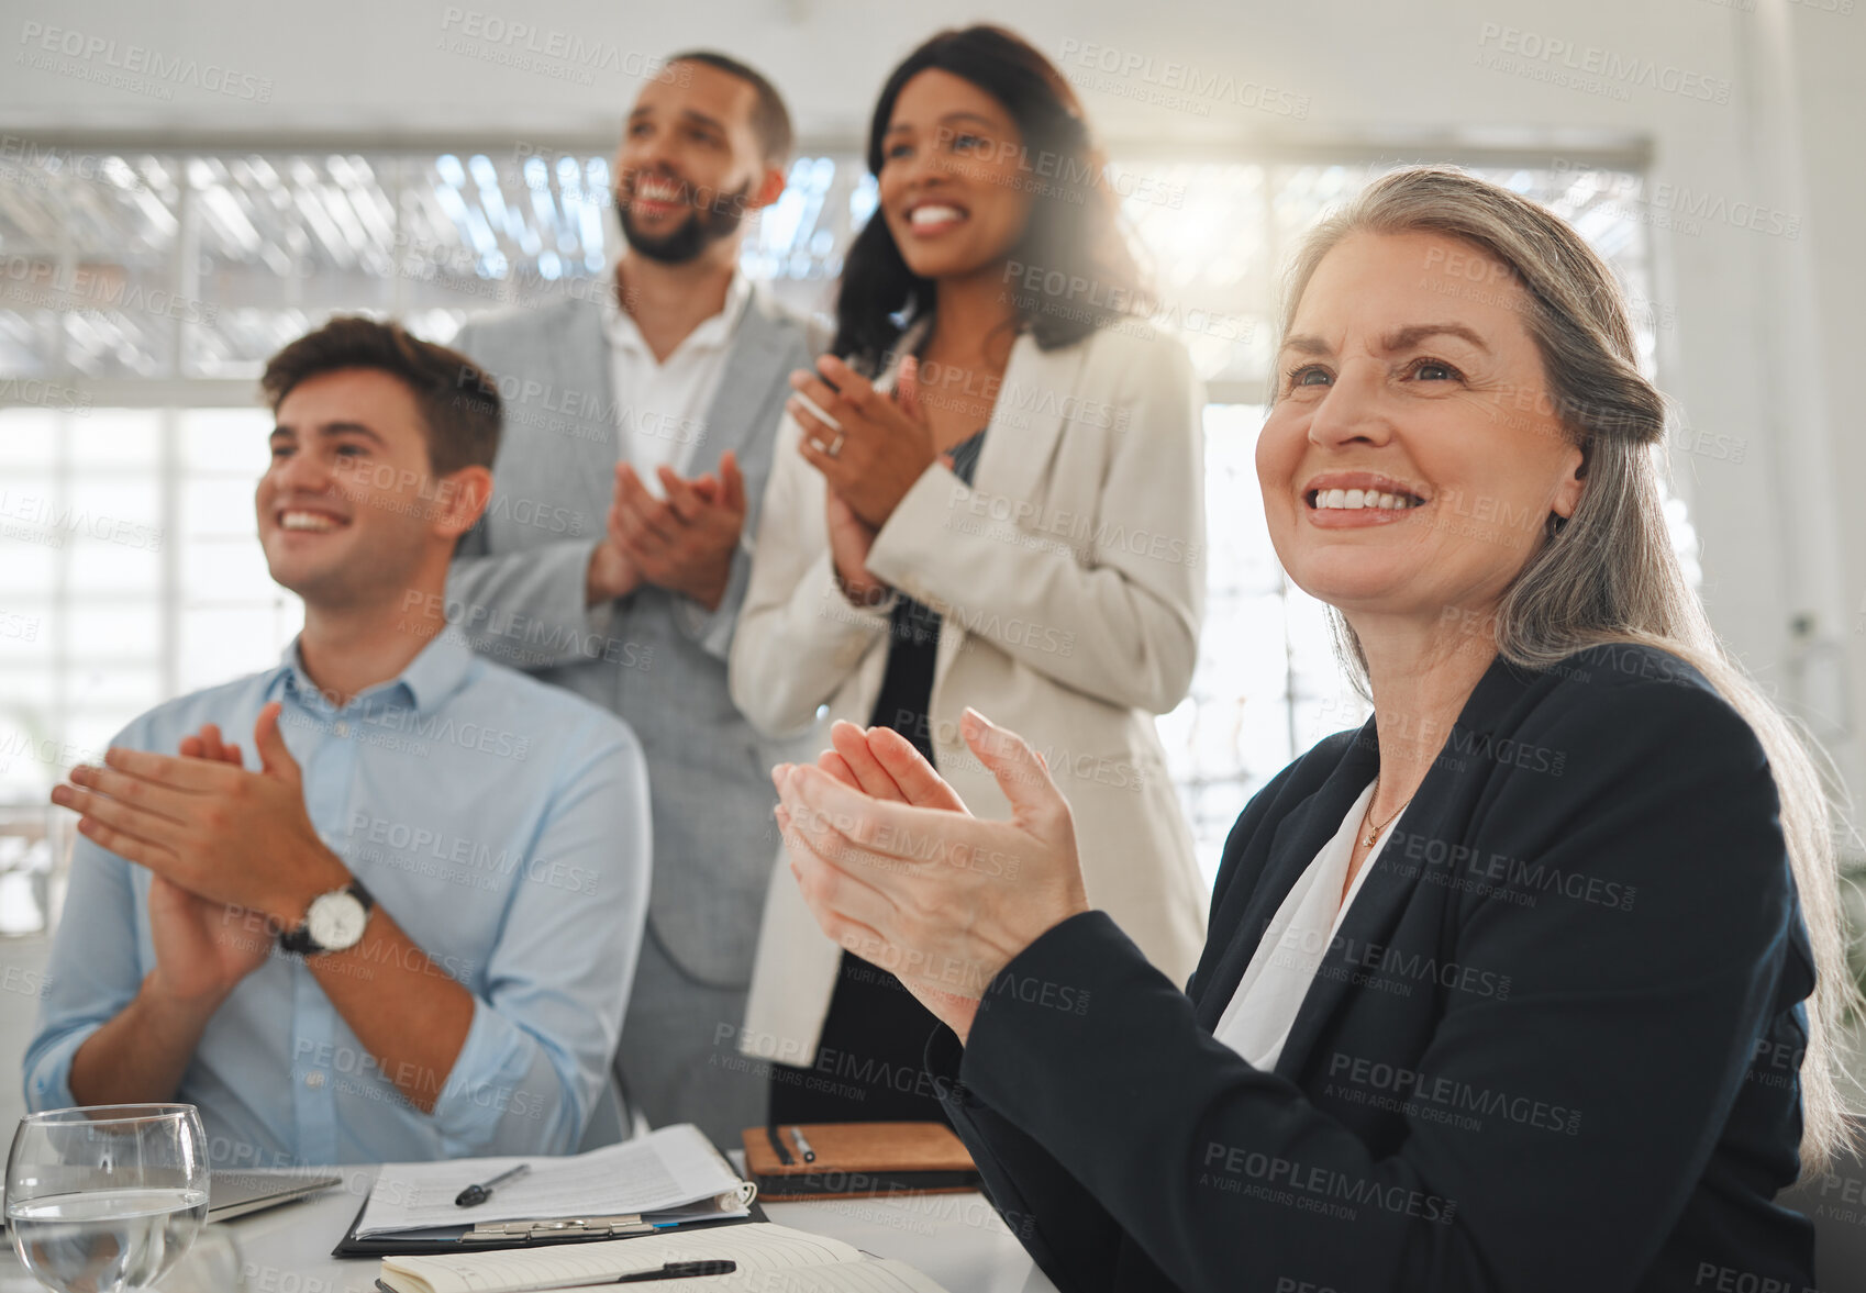
[[[892,728],[983,815],[1010,804],[959,715],[1004,715],[1067,787],[1090,901],[1183,981],[1205,899],[1153,720],[1187,692],[1204,606],[1189,358],[1131,313],[1101,160],[1028,43],[976,26],[922,45],[881,93],[868,164],[879,207],[834,355],[793,375],[778,433],[733,702],[771,735],[825,705]],[[780,1062],[773,1118],[942,1116],[933,1019],[877,959],[825,944],[773,884],[743,1030]]]

